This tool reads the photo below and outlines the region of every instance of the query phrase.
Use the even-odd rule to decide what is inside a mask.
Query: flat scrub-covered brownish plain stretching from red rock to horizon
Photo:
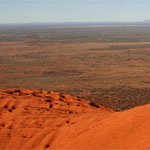
[[[115,110],[150,102],[150,25],[0,26],[0,89],[59,91]]]

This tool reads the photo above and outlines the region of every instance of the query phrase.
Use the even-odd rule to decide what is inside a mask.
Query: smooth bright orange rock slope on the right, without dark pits
[[[150,105],[113,113],[91,122],[91,126],[81,127],[82,121],[63,128],[52,149],[150,149]]]

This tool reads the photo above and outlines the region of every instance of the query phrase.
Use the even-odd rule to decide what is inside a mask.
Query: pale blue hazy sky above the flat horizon
[[[0,23],[149,19],[150,0],[0,0]]]

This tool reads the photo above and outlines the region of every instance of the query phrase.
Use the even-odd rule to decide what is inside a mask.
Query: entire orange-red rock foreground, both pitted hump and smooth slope
[[[114,112],[74,96],[0,91],[0,149],[150,149],[150,105]]]

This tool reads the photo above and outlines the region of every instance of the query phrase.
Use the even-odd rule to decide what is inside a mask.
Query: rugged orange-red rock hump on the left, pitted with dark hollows
[[[82,120],[92,121],[93,116],[102,119],[111,112],[57,92],[0,91],[0,149],[49,149],[60,129]],[[84,125],[88,122],[83,121]]]

